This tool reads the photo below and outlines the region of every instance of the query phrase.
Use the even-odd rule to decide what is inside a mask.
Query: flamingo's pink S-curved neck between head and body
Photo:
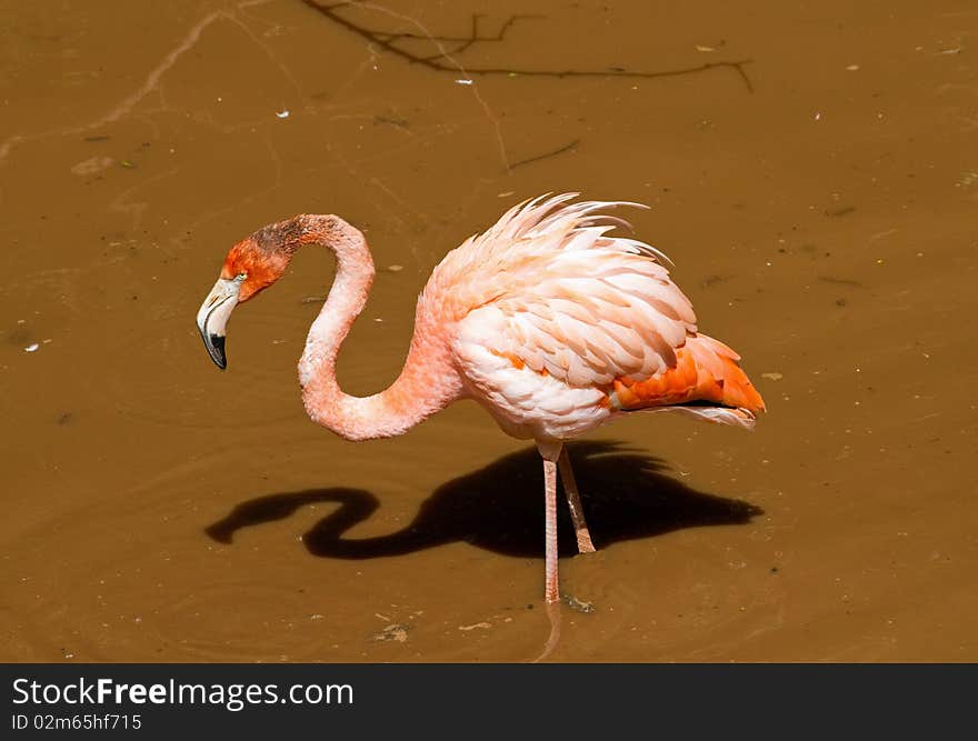
[[[299,361],[302,401],[313,421],[348,440],[390,438],[406,432],[460,398],[461,380],[452,368],[445,328],[418,311],[408,359],[398,379],[371,397],[343,393],[336,360],[373,282],[373,260],[358,229],[335,216],[296,217],[298,242],[321,244],[337,258],[336,280],[312,322]],[[419,304],[420,308],[420,304]]]

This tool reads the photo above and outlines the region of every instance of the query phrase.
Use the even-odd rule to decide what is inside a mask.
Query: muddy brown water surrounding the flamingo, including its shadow
[[[239,238],[342,214],[381,270],[340,378],[376,391],[431,268],[548,190],[652,206],[769,407],[572,449],[600,550],[551,659],[978,659],[974,2],[380,2],[3,3],[0,659],[536,657],[532,449],[471,403],[311,423],[321,252],[227,373],[193,317]]]

